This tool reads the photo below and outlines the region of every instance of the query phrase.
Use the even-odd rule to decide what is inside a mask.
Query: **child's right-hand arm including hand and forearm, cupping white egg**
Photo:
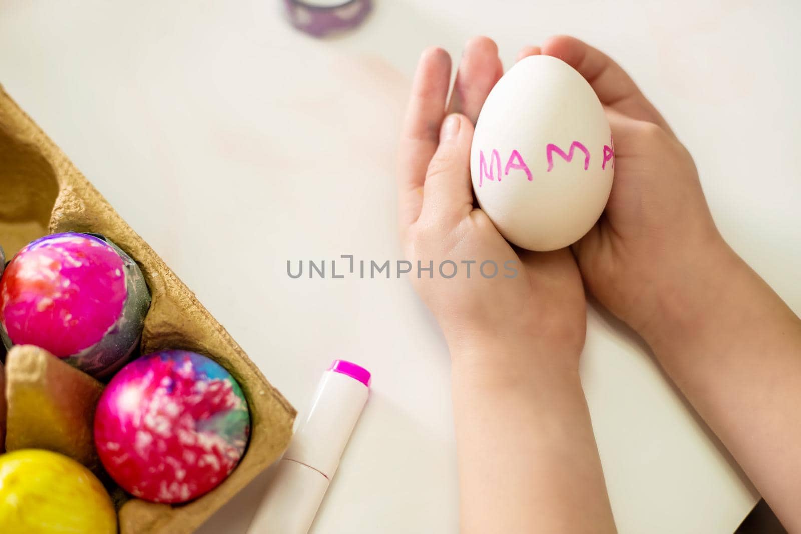
[[[542,51],[590,81],[612,126],[612,194],[574,245],[587,286],[801,532],[801,321],[718,234],[690,155],[620,66],[570,37]]]

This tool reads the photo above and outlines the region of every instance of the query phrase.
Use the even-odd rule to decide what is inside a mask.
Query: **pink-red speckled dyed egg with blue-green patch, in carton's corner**
[[[244,455],[248,403],[206,356],[163,351],[128,363],[100,397],[95,446],[125,491],[183,503],[223,482]]]

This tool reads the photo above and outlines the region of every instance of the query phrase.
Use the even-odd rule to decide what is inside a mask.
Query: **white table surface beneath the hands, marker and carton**
[[[312,532],[457,532],[448,353],[408,281],[286,274],[400,259],[396,139],[429,44],[458,58],[488,34],[507,66],[554,33],[607,50],[690,147],[723,234],[801,311],[798,2],[377,0],[324,41],[278,5],[0,0],[0,83],[301,416],[332,359],[373,371]],[[603,312],[582,378],[620,532],[733,532],[757,495]],[[264,484],[199,532],[244,533]]]

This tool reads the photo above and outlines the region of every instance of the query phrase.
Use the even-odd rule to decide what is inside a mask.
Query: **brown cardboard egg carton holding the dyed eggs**
[[[231,372],[248,399],[252,425],[248,449],[223,484],[187,504],[131,498],[119,508],[122,534],[193,532],[284,452],[296,411],[0,86],[0,245],[6,259],[31,240],[62,231],[106,235],[139,264],[153,299],[144,322],[143,354],[181,348],[207,355]]]

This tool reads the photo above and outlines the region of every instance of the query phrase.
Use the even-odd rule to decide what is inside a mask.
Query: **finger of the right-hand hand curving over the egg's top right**
[[[605,106],[614,107],[632,118],[655,122],[673,133],[634,80],[602,51],[569,35],[557,35],[545,41],[542,53],[560,58],[582,73]]]

